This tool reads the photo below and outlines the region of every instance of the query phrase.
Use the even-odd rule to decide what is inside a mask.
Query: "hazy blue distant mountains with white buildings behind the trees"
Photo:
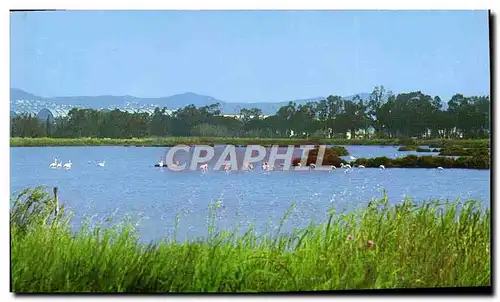
[[[369,93],[359,93],[361,99],[369,98]],[[352,99],[354,95],[346,96],[344,99]],[[297,105],[305,104],[311,101],[321,100],[324,97],[314,97],[308,99],[290,100]],[[32,112],[38,113],[42,109],[50,109],[55,111],[66,111],[74,107],[78,108],[93,108],[93,109],[122,109],[122,110],[152,110],[155,107],[167,107],[170,110],[175,110],[187,105],[195,105],[202,107],[215,103],[220,103],[223,114],[235,114],[242,108],[259,108],[265,115],[275,114],[278,109],[288,104],[289,101],[283,102],[256,102],[256,103],[237,103],[225,102],[215,99],[211,96],[199,95],[192,92],[172,95],[159,98],[138,98],[134,96],[72,96],[72,97],[40,97],[23,91],[17,88],[10,89],[10,105],[12,112]]]

